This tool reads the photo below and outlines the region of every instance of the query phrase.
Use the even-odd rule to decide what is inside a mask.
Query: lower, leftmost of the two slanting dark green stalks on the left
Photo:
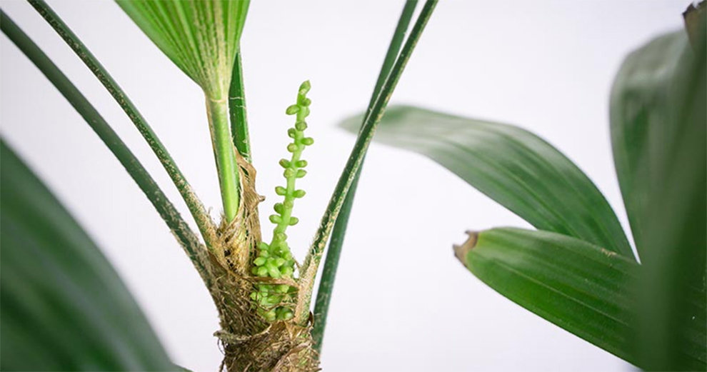
[[[54,84],[62,96],[69,101],[69,104],[79,112],[81,117],[86,120],[86,123],[91,126],[91,129],[99,136],[101,141],[106,144],[108,149],[116,156],[116,159],[124,166],[125,170],[132,177],[142,192],[147,196],[154,208],[157,210],[161,218],[167,224],[169,229],[174,233],[177,241],[181,244],[187,256],[191,259],[199,271],[201,278],[204,279],[207,285],[208,276],[206,276],[206,263],[204,257],[199,254],[201,243],[199,237],[194,231],[191,231],[189,225],[181,218],[179,211],[174,208],[174,205],[169,201],[169,198],[162,192],[154,179],[144,169],[140,161],[121,141],[120,137],[111,129],[111,126],[106,123],[104,118],[98,111],[91,106],[91,103],[86,97],[81,94],[79,89],[71,84],[71,81],[64,75],[59,68],[51,62],[48,56],[44,54],[39,46],[34,44],[34,41],[29,39],[24,31],[7,16],[4,11],[0,10],[0,29],[3,33],[29,58],[32,63],[37,66],[44,76]]]

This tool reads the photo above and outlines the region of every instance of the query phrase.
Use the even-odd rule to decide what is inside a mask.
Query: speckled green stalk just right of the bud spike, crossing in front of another
[[[386,106],[388,105],[388,101],[391,99],[393,90],[398,84],[400,76],[408,63],[436,4],[437,0],[428,0],[423,6],[415,26],[413,26],[410,36],[408,37],[408,40],[406,41],[405,46],[403,46],[400,56],[398,56],[396,63],[393,65],[391,74],[388,76],[388,79],[386,79],[385,84],[383,84],[381,94],[376,99],[376,104],[373,105],[370,114],[368,114],[366,120],[363,122],[363,127],[361,128],[361,132],[358,134],[356,144],[353,145],[353,150],[351,151],[351,156],[349,156],[349,161],[346,162],[346,166],[344,167],[344,171],[339,178],[339,182],[336,184],[336,188],[334,188],[334,194],[331,196],[329,205],[324,212],[324,216],[321,218],[319,229],[314,236],[314,242],[312,243],[309,253],[307,254],[302,265],[299,298],[297,302],[297,309],[295,311],[295,318],[299,323],[304,323],[306,319],[309,318],[309,305],[311,303],[312,289],[314,287],[314,278],[316,277],[316,272],[319,269],[319,262],[321,261],[322,253],[324,253],[326,241],[329,240],[331,228],[334,227],[336,218],[339,216],[339,212],[341,211],[341,206],[344,204],[346,194],[353,183],[353,178],[356,176],[356,172],[361,166],[363,155],[366,154],[368,145],[371,143],[371,139],[373,138],[373,132],[376,130],[378,122],[381,121],[381,118],[385,113]]]

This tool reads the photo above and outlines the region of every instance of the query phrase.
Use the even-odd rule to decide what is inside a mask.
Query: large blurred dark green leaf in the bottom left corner
[[[0,159],[0,368],[174,370],[91,238],[4,141]]]

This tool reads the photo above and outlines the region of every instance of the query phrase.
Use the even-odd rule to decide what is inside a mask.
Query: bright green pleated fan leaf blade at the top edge
[[[226,99],[250,1],[116,0],[210,99]]]

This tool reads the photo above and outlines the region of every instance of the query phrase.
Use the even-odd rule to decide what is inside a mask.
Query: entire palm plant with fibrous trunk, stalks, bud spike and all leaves
[[[248,1],[118,1],[204,91],[224,211],[219,223],[108,71],[44,1],[29,2],[139,129],[196,221],[199,235],[98,111],[3,13],[2,31],[119,159],[194,264],[219,311],[221,368],[319,367],[346,223],[376,127],[376,139],[429,156],[538,229],[469,232],[456,255],[482,281],[641,368],[706,368],[706,51],[699,18],[691,22],[698,24],[693,48],[683,33],[656,39],[628,57],[612,93],[616,168],[641,264],[601,192],[537,136],[410,106],[391,107],[383,116],[436,1],[426,1],[414,22],[417,1],[406,2],[368,110],[342,124],[358,134],[356,144],[299,264],[286,231],[298,221],[294,203],[304,191],[296,182],[306,174],[303,151],[314,142],[305,135],[311,84],[301,84],[286,109],[294,116],[291,155],[280,162],[286,184],[275,190],[282,201],[269,217],[275,226],[266,242],[239,52]],[[2,368],[174,369],[95,243],[13,151],[4,143],[1,149],[1,341],[17,351],[3,356]]]

